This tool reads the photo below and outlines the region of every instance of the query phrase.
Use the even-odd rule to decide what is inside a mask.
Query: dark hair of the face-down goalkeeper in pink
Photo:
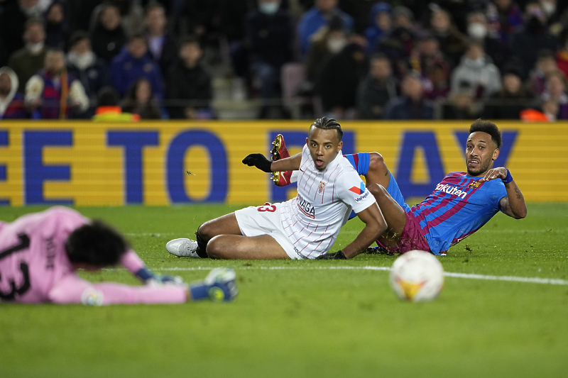
[[[65,251],[70,262],[83,262],[95,267],[116,265],[129,244],[122,235],[102,221],[92,221],[70,233]]]

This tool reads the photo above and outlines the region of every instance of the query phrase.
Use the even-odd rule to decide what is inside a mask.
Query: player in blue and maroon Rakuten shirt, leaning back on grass
[[[280,164],[273,163],[271,167],[280,168],[282,162],[293,161],[295,157],[288,157],[282,135],[278,135],[273,145],[273,159]],[[379,248],[388,253],[426,250],[445,255],[449,247],[479,230],[498,211],[516,219],[525,218],[525,199],[509,170],[493,168],[501,145],[501,131],[494,123],[474,121],[466,142],[466,172],[447,174],[430,196],[412,207],[405,204],[380,154],[346,155],[346,160],[365,176],[367,188],[388,224],[376,240]],[[296,175],[286,169],[275,172],[273,180],[276,185],[285,186],[294,182]],[[324,257],[341,258],[333,254]]]

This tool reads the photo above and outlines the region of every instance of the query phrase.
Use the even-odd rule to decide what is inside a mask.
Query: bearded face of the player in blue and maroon
[[[499,149],[491,140],[491,135],[476,131],[469,134],[466,143],[467,174],[484,176],[493,167],[493,160],[499,156]]]

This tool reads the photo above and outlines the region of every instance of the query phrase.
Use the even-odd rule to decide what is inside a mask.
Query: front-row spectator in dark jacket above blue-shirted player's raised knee
[[[382,119],[385,105],[398,95],[398,80],[385,55],[373,55],[369,66],[357,91],[358,116],[360,119]]]

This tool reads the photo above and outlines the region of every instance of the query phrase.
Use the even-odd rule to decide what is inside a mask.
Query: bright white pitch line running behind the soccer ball
[[[168,272],[181,272],[191,270],[211,270],[211,267],[173,267],[173,268],[154,268],[156,271]],[[288,269],[305,269],[305,270],[384,270],[390,271],[390,267],[238,267],[235,270],[288,270]],[[538,277],[513,277],[513,276],[488,276],[484,274],[468,274],[468,273],[453,273],[444,272],[444,276],[453,278],[465,279],[485,279],[488,281],[508,281],[508,282],[525,282],[529,284],[548,284],[548,285],[566,285],[566,279],[551,279],[551,278],[538,278]]]

